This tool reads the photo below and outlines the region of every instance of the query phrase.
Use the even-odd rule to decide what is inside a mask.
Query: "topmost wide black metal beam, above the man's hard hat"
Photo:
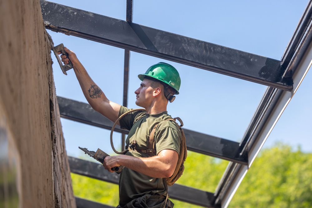
[[[40,1],[45,27],[130,51],[155,56],[290,91],[281,61],[219,46],[103,15]]]

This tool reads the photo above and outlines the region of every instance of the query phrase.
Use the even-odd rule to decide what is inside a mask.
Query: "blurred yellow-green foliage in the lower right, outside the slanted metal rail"
[[[281,144],[264,149],[234,195],[233,207],[312,207],[312,154]]]

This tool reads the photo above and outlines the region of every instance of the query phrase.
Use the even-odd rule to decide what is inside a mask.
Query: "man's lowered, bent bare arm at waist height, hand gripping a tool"
[[[129,155],[117,155],[105,157],[103,166],[113,172],[112,167],[124,166],[144,175],[165,178],[172,176],[178,162],[178,152],[164,149],[154,157],[133,157]]]

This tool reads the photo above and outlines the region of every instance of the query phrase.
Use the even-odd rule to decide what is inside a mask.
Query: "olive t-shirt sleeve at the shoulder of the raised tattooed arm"
[[[118,116],[121,116],[122,114],[124,114],[130,110],[132,110],[132,109],[121,106],[119,109],[119,115]],[[131,113],[125,115],[122,119],[119,120],[120,128],[130,130],[134,124],[134,121],[136,121],[137,119],[140,119],[145,114],[146,114],[146,111],[134,111],[134,112],[131,112]]]

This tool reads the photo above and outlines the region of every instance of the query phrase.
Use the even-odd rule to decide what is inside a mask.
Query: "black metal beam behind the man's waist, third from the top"
[[[105,171],[102,164],[78,159],[75,157],[68,157],[68,161],[72,173],[115,184],[118,184],[119,182],[119,175],[117,173],[110,173]],[[214,208],[220,207],[219,205],[213,205],[213,193],[198,190],[192,187],[174,184],[173,186],[168,187],[168,195],[172,199],[199,206]]]

